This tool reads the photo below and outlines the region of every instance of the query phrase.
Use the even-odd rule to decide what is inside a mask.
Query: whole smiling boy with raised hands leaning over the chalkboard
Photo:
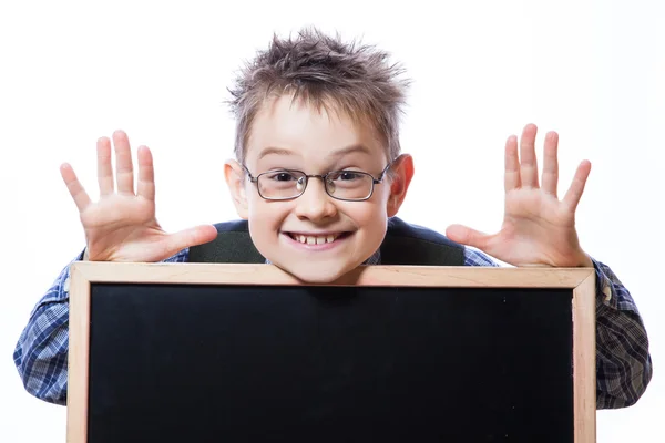
[[[528,125],[519,147],[515,136],[505,144],[500,233],[451,226],[446,238],[403,223],[396,215],[413,176],[412,158],[399,146],[407,83],[387,58],[375,48],[303,31],[295,39],[275,38],[244,69],[232,90],[236,159],[224,173],[246,222],[164,233],[155,219],[150,150],[139,147],[135,187],[127,136],[113,134],[115,176],[111,141],[100,138],[99,202],[90,200],[71,166],[61,167],[85,231],[78,259],[260,261],[303,281],[330,282],[362,264],[415,264],[413,257],[424,256],[419,248],[433,244],[441,254],[424,264],[498,266],[492,256],[515,266],[594,267],[597,408],[635,403],[652,375],[646,331],[628,291],[582,250],[574,226],[591,164],[579,166],[560,200],[557,135],[545,136],[539,184],[536,128]],[[229,233],[239,235],[239,247]],[[407,239],[403,254],[387,246],[398,237]],[[28,391],[58,404],[66,401],[68,286],[69,266],[37,305],[14,351]]]

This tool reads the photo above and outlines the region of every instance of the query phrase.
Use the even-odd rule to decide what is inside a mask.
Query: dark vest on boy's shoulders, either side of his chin
[[[249,237],[246,220],[216,224],[217,238],[190,248],[190,262],[266,262]],[[388,220],[381,265],[463,266],[464,248],[439,233],[400,218]]]

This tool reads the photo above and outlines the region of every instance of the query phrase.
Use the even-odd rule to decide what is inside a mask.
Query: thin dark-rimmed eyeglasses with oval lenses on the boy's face
[[[320,178],[326,194],[344,202],[362,202],[371,197],[375,185],[380,184],[393,162],[388,163],[378,178],[362,171],[332,171],[327,174],[305,174],[296,169],[274,169],[252,175],[245,165],[243,168],[249,182],[256,184],[258,195],[266,200],[289,200],[305,193],[309,178]]]

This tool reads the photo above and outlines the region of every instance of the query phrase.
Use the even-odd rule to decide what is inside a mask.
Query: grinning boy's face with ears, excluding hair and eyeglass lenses
[[[264,105],[246,144],[245,166],[254,177],[273,169],[306,174],[352,169],[378,178],[388,163],[385,144],[374,130],[290,96]],[[403,155],[367,200],[335,199],[320,178],[309,178],[303,195],[275,202],[259,196],[236,162],[225,166],[236,209],[248,220],[258,251],[309,282],[334,281],[379,248],[387,219],[397,214],[412,174],[411,157]]]

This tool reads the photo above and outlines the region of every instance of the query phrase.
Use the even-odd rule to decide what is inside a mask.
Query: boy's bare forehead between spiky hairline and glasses
[[[371,119],[345,112],[336,103],[310,103],[282,95],[266,100],[256,113],[245,157],[266,155],[387,157],[385,142]]]

